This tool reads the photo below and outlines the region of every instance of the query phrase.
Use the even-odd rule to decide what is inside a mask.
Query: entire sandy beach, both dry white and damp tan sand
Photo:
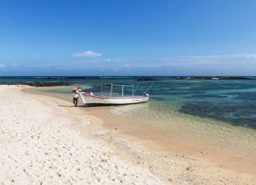
[[[139,126],[126,127],[130,120],[113,120],[107,115],[97,115],[104,113],[104,111],[100,112],[99,108],[75,109],[70,107],[70,102],[43,95],[27,94],[20,90],[20,87],[0,86],[2,96],[0,153],[4,156],[1,158],[4,162],[0,166],[0,183],[9,184],[13,183],[12,180],[19,182],[21,179],[26,180],[24,182],[27,183],[67,184],[255,184],[256,182],[254,168],[250,167],[251,172],[243,172],[243,170],[239,171],[239,168],[233,168],[234,166],[221,166],[221,162],[215,164],[205,157],[205,155],[209,157],[210,154],[201,153],[205,148],[200,148],[192,142],[183,145],[187,141],[173,136],[168,140],[168,145],[171,147],[167,148],[166,145],[161,146],[156,140],[150,139],[152,135],[160,136],[157,130],[149,131],[143,127],[139,129]],[[26,109],[21,109],[22,106]],[[6,107],[9,109],[3,109]],[[99,117],[104,117],[104,121]],[[22,123],[22,128],[17,127],[17,122]],[[24,131],[30,136],[24,135]],[[40,139],[36,139],[38,136]],[[170,135],[161,135],[161,137],[164,140]],[[21,146],[19,146],[20,141],[23,143]],[[196,152],[191,152],[195,148]],[[28,150],[28,153],[24,153],[24,150]],[[72,155],[75,157],[66,157],[66,150],[72,150]],[[190,152],[183,153],[182,151],[185,150]],[[12,154],[11,157],[9,154]],[[26,156],[27,154],[29,157]],[[211,151],[211,154],[214,157],[214,151]],[[47,160],[54,168],[49,168],[51,165]],[[76,160],[79,161],[79,167]],[[23,164],[28,163],[28,165],[20,165],[20,162],[16,161],[25,161]],[[74,168],[79,168],[79,171],[72,171]],[[82,168],[85,168],[86,172],[81,172]],[[20,170],[18,173],[13,172],[17,169]]]

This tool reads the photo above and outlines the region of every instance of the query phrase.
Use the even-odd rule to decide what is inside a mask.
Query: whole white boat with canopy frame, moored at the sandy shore
[[[104,86],[111,87],[110,94],[108,96],[103,95],[102,91],[103,91]],[[121,96],[114,95],[113,87],[121,87],[122,88]],[[132,94],[129,96],[125,96],[124,95],[124,87],[132,87]],[[135,91],[136,91],[136,89],[135,89]],[[84,102],[84,105],[88,105],[88,104],[90,104],[90,105],[125,105],[125,104],[134,104],[134,103],[141,103],[141,102],[149,101],[149,94],[144,93],[143,95],[138,96],[138,95],[134,95],[135,91],[134,91],[134,86],[114,85],[112,83],[107,83],[107,84],[101,85],[101,94],[100,95],[95,95],[91,91],[80,92],[79,94],[81,95],[81,99]]]

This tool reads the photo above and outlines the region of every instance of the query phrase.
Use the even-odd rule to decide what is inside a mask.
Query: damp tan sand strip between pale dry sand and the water
[[[256,182],[256,154],[250,154],[247,158],[241,157],[232,150],[225,150],[218,143],[211,145],[207,140],[198,141],[191,139],[189,135],[177,135],[169,130],[152,128],[145,122],[113,116],[107,111],[107,107],[84,109],[86,114],[104,120],[103,126],[109,131],[108,135],[126,141],[121,144],[111,142],[111,146],[122,157],[134,163],[142,161],[144,166],[148,166],[152,172],[164,179],[171,179],[177,184]],[[141,144],[144,147],[143,152],[136,148],[134,151],[131,146],[132,154],[127,155],[123,145],[129,147],[130,143]]]

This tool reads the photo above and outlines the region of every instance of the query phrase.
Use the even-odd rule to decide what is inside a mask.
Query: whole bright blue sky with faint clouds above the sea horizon
[[[256,76],[256,1],[1,0],[0,76]]]

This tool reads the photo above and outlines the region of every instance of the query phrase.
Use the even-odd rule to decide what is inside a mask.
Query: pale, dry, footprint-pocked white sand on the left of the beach
[[[164,183],[149,169],[67,128],[77,120],[65,108],[24,96],[18,88],[0,87],[0,184]]]

